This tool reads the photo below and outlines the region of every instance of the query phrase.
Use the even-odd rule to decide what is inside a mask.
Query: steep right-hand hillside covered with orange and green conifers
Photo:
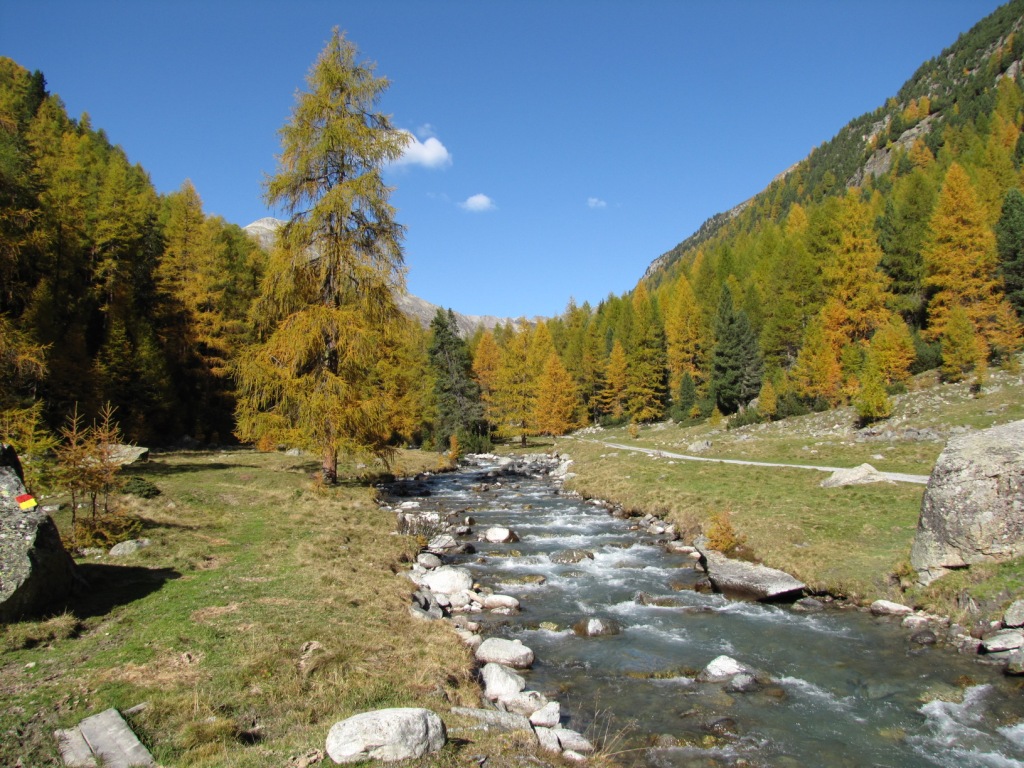
[[[1022,14],[1017,0],[980,22],[629,294],[521,333],[553,340],[590,417],[636,422],[728,415],[759,394],[738,418],[852,401],[871,421],[912,373],[981,384],[1015,366]]]

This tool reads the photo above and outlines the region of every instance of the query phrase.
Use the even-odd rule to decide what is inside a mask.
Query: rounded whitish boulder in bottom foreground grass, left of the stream
[[[446,740],[444,723],[430,710],[377,710],[331,726],[327,754],[335,763],[416,760],[437,752]]]

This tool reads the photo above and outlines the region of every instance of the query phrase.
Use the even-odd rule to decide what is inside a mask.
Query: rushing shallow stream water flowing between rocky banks
[[[518,534],[513,544],[474,541],[475,554],[456,558],[521,602],[513,616],[478,614],[484,634],[532,648],[527,687],[558,699],[568,727],[610,741],[623,763],[1024,767],[1024,696],[998,668],[912,645],[894,620],[687,590],[698,574],[686,556],[549,479],[496,480],[488,469],[432,478],[422,506]],[[570,548],[594,557],[551,560]],[[638,592],[672,605],[640,604]],[[614,620],[621,634],[573,634],[590,616]],[[695,682],[721,654],[771,682],[750,693]]]

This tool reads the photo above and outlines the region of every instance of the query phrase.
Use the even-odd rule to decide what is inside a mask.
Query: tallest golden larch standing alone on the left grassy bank
[[[377,366],[397,343],[404,287],[403,227],[382,169],[409,134],[377,111],[388,81],[356,56],[335,29],[281,130],[265,197],[289,218],[254,306],[260,340],[236,377],[239,437],[318,451],[329,483],[341,452],[392,456]]]

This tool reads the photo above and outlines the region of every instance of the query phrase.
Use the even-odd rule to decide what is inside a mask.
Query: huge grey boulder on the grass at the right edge
[[[910,551],[918,580],[1022,554],[1024,421],[950,438],[921,503]]]

